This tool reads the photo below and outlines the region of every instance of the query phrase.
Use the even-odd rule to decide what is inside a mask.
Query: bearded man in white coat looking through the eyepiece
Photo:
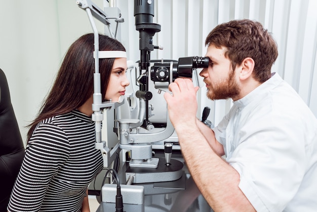
[[[197,187],[215,211],[315,211],[317,120],[271,73],[275,41],[259,22],[233,20],[215,27],[206,45],[207,96],[233,100],[218,126],[196,118],[199,88],[190,79],[164,94]]]

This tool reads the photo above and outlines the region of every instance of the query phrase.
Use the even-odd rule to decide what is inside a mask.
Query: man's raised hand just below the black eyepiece
[[[169,85],[169,90],[173,95],[165,93],[164,98],[168,104],[169,117],[175,129],[186,123],[195,123],[198,89],[199,87],[194,87],[191,79],[186,78],[178,78]]]

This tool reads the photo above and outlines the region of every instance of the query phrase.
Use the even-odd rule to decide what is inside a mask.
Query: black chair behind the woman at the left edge
[[[0,69],[0,211],[7,211],[24,157],[24,146],[12,108],[7,78]]]

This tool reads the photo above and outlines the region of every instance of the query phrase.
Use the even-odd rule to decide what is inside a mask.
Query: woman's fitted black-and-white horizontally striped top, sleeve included
[[[89,183],[102,170],[95,125],[79,111],[37,125],[8,211],[79,211]]]

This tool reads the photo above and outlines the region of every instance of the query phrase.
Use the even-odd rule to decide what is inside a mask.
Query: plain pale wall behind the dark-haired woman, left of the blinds
[[[75,1],[0,0],[0,68],[4,70],[21,134],[36,116],[70,44],[91,32]],[[100,7],[101,0],[95,1]],[[97,24],[100,32],[103,25]]]

